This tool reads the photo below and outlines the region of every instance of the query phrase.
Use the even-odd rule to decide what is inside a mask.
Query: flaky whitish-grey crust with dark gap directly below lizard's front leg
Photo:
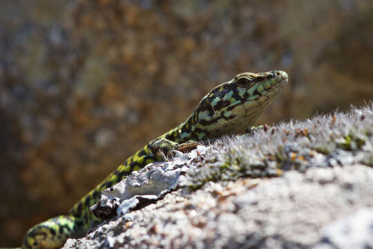
[[[209,147],[198,145],[188,154],[175,151],[171,162],[155,162],[146,165],[139,172],[132,172],[127,178],[104,190],[98,203],[90,210],[101,219],[123,215],[139,209],[146,202],[160,199],[164,194],[179,187],[191,185],[190,178],[184,175],[195,169],[200,156]]]

